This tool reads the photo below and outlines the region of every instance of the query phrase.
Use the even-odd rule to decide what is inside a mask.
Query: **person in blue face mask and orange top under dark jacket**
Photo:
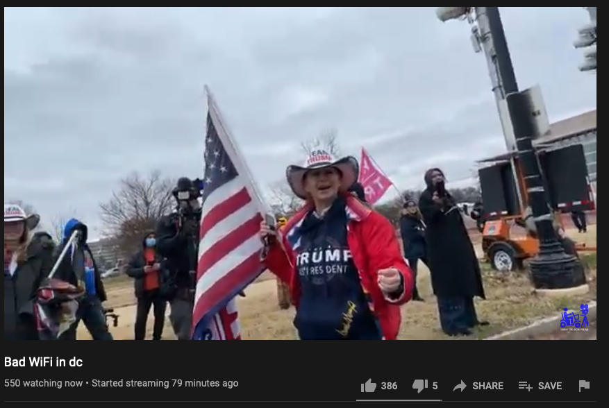
[[[135,280],[135,297],[137,298],[135,340],[146,339],[146,324],[151,308],[154,309],[152,339],[161,340],[167,309],[167,300],[162,294],[162,286],[167,275],[162,268],[162,257],[156,248],[155,232],[149,232],[144,237],[142,250],[133,255],[126,273]]]

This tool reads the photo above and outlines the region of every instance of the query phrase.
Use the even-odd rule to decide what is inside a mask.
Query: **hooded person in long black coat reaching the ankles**
[[[474,297],[485,298],[480,264],[455,200],[445,188],[444,173],[425,173],[426,190],[419,209],[426,223],[431,284],[440,324],[449,336],[467,336],[486,322],[478,320]]]

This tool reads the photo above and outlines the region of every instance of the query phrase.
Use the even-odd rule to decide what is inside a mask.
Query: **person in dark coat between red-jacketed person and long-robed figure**
[[[425,241],[425,223],[414,200],[408,200],[404,204],[400,219],[400,235],[404,246],[404,257],[408,260],[410,269],[415,278],[415,289],[412,292],[412,300],[422,302],[423,298],[417,289],[417,270],[419,261],[429,266],[427,261],[427,244]]]

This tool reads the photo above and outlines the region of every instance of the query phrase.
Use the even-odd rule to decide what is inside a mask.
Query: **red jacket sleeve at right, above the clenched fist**
[[[395,294],[395,296],[385,294],[385,300],[396,305],[403,305],[412,298],[415,281],[410,266],[402,256],[395,230],[387,219],[376,212],[372,212],[369,219],[364,222],[368,223],[365,239],[372,279],[376,282],[378,271],[389,268],[397,269],[402,278],[401,293]]]

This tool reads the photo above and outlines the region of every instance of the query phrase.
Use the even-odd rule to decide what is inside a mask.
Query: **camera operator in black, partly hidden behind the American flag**
[[[201,225],[200,180],[181,178],[174,188],[176,210],[160,219],[157,250],[166,259],[169,279],[161,291],[169,300],[169,319],[178,340],[190,340]]]

